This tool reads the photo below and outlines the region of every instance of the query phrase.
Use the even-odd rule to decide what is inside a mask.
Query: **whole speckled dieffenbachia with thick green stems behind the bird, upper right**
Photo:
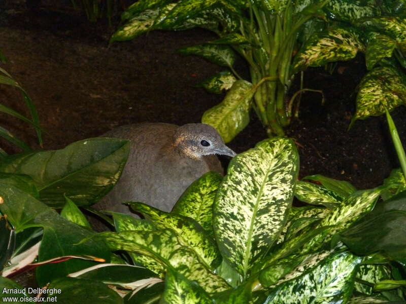
[[[400,0],[140,0],[122,14],[123,25],[111,40],[130,40],[153,29],[215,32],[218,40],[180,52],[226,68],[201,85],[214,93],[228,91],[202,117],[227,142],[247,126],[251,109],[269,136],[283,135],[298,113],[297,94],[287,98],[294,75],[358,52],[365,53],[370,71],[361,82],[353,121],[402,104],[404,16]],[[238,55],[248,63],[250,79],[233,68]]]

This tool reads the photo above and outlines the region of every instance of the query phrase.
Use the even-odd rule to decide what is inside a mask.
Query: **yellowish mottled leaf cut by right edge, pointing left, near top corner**
[[[406,20],[402,16],[379,16],[364,19],[363,25],[375,29],[394,39],[402,50],[406,50]]]

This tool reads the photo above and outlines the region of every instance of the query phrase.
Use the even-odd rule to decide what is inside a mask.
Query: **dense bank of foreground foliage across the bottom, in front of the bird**
[[[110,212],[116,232],[95,234],[77,205],[106,193],[127,155],[127,141],[94,138],[8,157],[0,166],[4,273],[38,254],[37,280],[60,289],[61,302],[406,299],[404,194],[374,209],[384,187],[357,191],[320,175],[298,181],[293,141],[275,137],[234,157],[226,176],[201,176],[172,212],[128,202],[145,219]],[[294,196],[304,206],[292,206]],[[60,215],[44,203],[63,207]],[[0,284],[24,291],[4,277]]]

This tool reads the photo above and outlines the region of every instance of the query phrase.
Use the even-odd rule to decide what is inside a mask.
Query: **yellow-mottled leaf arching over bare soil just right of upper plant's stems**
[[[310,37],[296,54],[293,69],[294,72],[297,72],[308,66],[321,66],[331,61],[349,60],[364,48],[354,29],[350,27],[332,28]]]

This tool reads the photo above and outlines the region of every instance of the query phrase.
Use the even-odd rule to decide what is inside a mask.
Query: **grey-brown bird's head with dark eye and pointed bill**
[[[206,124],[186,124],[179,127],[175,132],[174,142],[182,154],[192,159],[213,154],[230,157],[236,155],[224,144],[217,130]]]

